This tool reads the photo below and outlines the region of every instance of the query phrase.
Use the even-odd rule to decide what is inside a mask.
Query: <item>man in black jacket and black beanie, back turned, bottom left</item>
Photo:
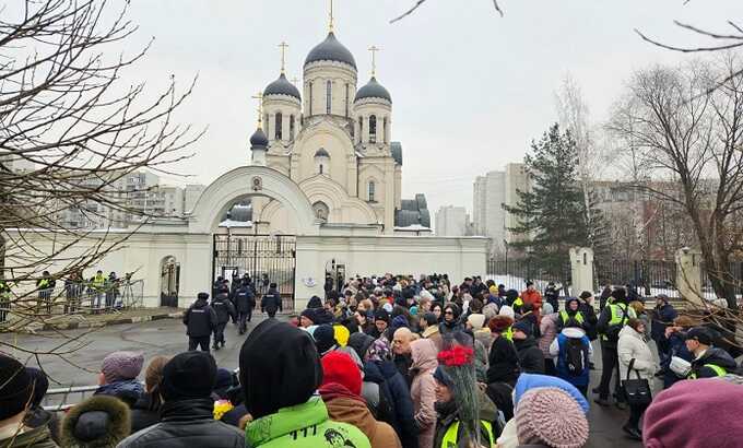
[[[161,423],[127,437],[119,448],[245,447],[245,435],[214,420],[216,364],[203,352],[176,355],[163,368]]]

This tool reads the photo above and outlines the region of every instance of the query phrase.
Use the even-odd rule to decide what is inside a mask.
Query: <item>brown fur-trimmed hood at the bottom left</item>
[[[114,448],[131,432],[131,413],[121,400],[94,396],[75,405],[61,425],[61,441],[69,448]]]

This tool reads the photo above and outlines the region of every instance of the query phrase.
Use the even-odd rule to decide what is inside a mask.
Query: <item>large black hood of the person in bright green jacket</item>
[[[245,406],[260,418],[282,408],[303,404],[322,382],[322,365],[308,332],[267,319],[240,350]]]

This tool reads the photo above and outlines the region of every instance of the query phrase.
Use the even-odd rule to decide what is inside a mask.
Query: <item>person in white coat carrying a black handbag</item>
[[[633,359],[635,362],[633,372],[629,372],[629,378],[636,379],[639,376],[641,379],[651,381],[656,374],[657,364],[648,345],[645,330],[645,322],[632,318],[627,321],[627,326],[620,331],[616,352],[620,358],[620,378],[622,380],[627,379],[627,372]],[[648,405],[630,405],[629,421],[622,427],[636,440],[642,440],[639,422],[647,408]]]

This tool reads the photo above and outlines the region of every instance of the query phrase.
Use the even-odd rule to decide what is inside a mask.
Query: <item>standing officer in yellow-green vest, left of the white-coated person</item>
[[[624,401],[620,392],[620,359],[616,353],[616,345],[620,340],[620,331],[627,325],[627,320],[636,318],[635,310],[627,306],[627,291],[624,287],[617,287],[612,292],[612,298],[604,309],[601,310],[597,330],[601,335],[601,382],[599,387],[593,389],[599,398],[594,400],[602,406],[609,405],[609,385],[612,381],[612,376],[616,372],[615,381],[615,397],[616,405],[624,409]]]

